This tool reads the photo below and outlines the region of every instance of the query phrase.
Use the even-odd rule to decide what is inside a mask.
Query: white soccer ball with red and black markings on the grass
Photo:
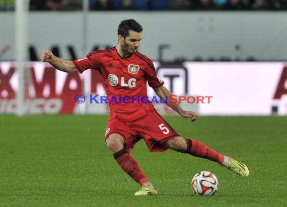
[[[208,171],[198,172],[192,178],[191,189],[196,195],[214,195],[218,190],[217,177]]]

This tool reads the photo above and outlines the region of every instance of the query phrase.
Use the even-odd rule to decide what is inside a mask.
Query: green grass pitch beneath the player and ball
[[[186,138],[247,164],[242,178],[219,164],[139,141],[131,155],[160,195],[139,185],[104,141],[107,116],[0,116],[0,206],[285,206],[287,117],[165,117]],[[201,170],[219,180],[214,196],[193,195]],[[285,204],[284,204],[285,203]]]

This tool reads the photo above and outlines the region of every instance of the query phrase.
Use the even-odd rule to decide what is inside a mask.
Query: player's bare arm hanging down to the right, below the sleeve
[[[192,122],[197,120],[198,115],[192,111],[184,111],[179,104],[176,102],[175,104],[171,104],[169,96],[171,95],[170,91],[165,86],[155,87],[153,88],[159,97],[162,97],[163,101],[166,101],[166,97],[168,97],[167,105],[176,111],[183,118],[190,118]]]

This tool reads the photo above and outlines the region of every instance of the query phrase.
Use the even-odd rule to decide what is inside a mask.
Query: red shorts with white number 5
[[[111,116],[106,128],[106,139],[113,133],[124,138],[125,150],[128,153],[140,139],[146,141],[151,152],[163,152],[168,148],[161,142],[180,137],[156,110],[151,110],[144,117],[132,122],[122,122]]]

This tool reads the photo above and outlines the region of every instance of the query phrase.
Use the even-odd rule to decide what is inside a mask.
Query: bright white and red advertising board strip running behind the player
[[[200,115],[287,115],[287,67],[283,62],[154,64],[165,86],[183,100],[185,110]],[[109,112],[108,104],[91,100],[106,95],[96,70],[65,73],[48,63],[28,62],[22,78],[25,86],[18,90],[15,62],[0,62],[0,114],[16,113],[17,91],[24,93],[21,107],[25,114]],[[151,87],[148,95],[155,95]],[[212,98],[192,102],[188,97]],[[86,101],[79,102],[83,98]],[[165,104],[155,106],[162,114],[174,113]]]

